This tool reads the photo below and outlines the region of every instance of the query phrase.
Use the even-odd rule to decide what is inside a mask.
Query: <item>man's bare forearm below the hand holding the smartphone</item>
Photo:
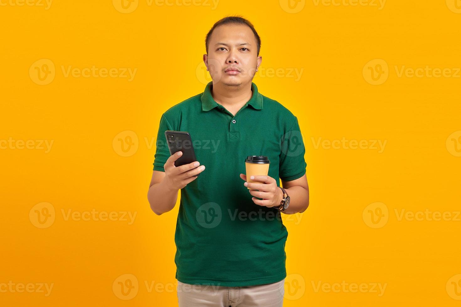
[[[165,179],[152,185],[147,194],[152,211],[160,215],[173,209],[176,205],[178,191],[168,186]]]

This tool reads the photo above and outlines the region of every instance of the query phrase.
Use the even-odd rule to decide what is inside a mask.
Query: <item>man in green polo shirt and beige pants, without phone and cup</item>
[[[283,304],[288,232],[280,216],[304,212],[309,192],[296,116],[252,82],[260,44],[248,20],[219,20],[203,55],[213,81],[160,119],[148,200],[160,215],[174,208],[181,189],[175,233],[180,307]],[[197,162],[175,166],[182,153],[170,156],[166,130],[190,133]],[[267,156],[268,175],[248,183],[247,156]]]

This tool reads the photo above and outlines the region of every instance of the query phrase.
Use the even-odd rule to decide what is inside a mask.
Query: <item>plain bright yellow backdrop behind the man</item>
[[[298,117],[306,145],[310,206],[285,220],[284,306],[459,306],[460,217],[398,215],[427,209],[454,217],[460,210],[461,73],[398,74],[403,66],[461,67],[454,1],[388,0],[380,7],[374,0],[361,3],[375,6],[311,0],[290,8],[286,0],[220,0],[216,7],[210,0],[139,0],[130,13],[111,0],[54,0],[48,9],[20,1],[0,6],[0,139],[53,145],[49,152],[0,150],[0,284],[53,283],[53,290],[0,292],[0,305],[176,306],[178,205],[157,216],[147,201],[159,119],[203,91],[205,35],[215,21],[238,14],[262,39],[266,72],[254,82]],[[35,83],[43,63],[33,64],[41,59],[55,66],[46,85]],[[388,65],[378,85],[366,75],[369,67],[378,70],[375,62],[366,66],[375,59]],[[128,81],[62,71],[93,65],[136,74]],[[301,78],[290,70],[302,70]],[[133,133],[138,139],[126,156],[118,139]],[[386,145],[381,153],[315,145],[343,137]],[[53,206],[54,221],[39,228],[30,212],[44,202]],[[376,206],[387,209],[386,222],[373,228],[367,214],[378,213]],[[129,211],[136,219],[66,220],[62,210],[69,209]],[[138,281],[130,300],[116,293],[124,274]],[[381,296],[316,291],[319,282],[343,281],[386,288]]]

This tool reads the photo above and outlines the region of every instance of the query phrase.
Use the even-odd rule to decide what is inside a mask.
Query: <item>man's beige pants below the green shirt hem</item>
[[[179,307],[282,307],[285,278],[273,284],[223,287],[177,282]]]

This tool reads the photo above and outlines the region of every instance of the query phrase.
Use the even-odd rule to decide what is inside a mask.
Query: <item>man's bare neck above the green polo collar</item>
[[[251,82],[242,87],[229,86],[222,83],[214,83],[211,90],[214,101],[223,105],[226,109],[241,107],[253,96]]]

